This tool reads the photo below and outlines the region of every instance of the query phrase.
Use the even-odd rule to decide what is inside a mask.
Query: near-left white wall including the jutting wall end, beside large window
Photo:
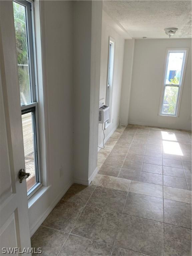
[[[31,235],[73,182],[88,185],[97,173],[102,1],[42,1],[41,7],[49,186],[29,200]]]

